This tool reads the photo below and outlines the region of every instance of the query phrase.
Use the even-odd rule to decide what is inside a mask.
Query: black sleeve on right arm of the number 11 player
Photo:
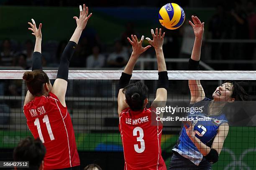
[[[77,46],[77,43],[73,41],[69,41],[67,46],[65,47],[62,55],[61,62],[59,64],[59,69],[57,73],[57,78],[64,79],[68,81],[69,76],[69,62],[71,60],[72,55],[74,54],[74,50]]]

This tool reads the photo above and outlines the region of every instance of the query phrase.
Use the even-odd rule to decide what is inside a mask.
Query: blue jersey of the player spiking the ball
[[[192,123],[196,133],[195,136],[199,138],[202,143],[211,148],[218,128],[222,123],[228,122],[228,120],[223,113],[212,116],[208,115],[208,106],[210,101],[210,99],[205,97],[204,100],[195,103],[191,107],[202,107],[202,112],[189,112],[187,116],[194,118]],[[177,144],[172,150],[179,153],[179,155],[182,155],[184,158],[189,159],[195,165],[199,165],[203,158],[202,153],[200,153],[194,143],[192,143],[187,136],[184,127],[182,127]]]

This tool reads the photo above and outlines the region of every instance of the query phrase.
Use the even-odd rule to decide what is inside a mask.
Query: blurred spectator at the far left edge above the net
[[[12,66],[14,64],[14,52],[11,49],[11,42],[9,39],[3,40],[2,49],[0,52],[0,65]]]

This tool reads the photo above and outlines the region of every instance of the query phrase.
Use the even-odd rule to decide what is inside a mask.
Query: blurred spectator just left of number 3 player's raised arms
[[[118,40],[115,42],[115,52],[108,56],[107,63],[110,67],[123,67],[128,61],[127,51]]]

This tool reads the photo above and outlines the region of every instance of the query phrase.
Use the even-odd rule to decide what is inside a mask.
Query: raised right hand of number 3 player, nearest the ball
[[[148,40],[149,44],[152,45],[155,49],[159,49],[163,47],[164,44],[164,35],[165,32],[163,33],[163,35],[161,35],[161,28],[159,29],[159,33],[158,33],[158,28],[156,28],[156,34],[154,33],[154,30],[151,29],[151,34],[153,36],[153,40],[151,40],[150,38],[146,37],[146,40]]]

